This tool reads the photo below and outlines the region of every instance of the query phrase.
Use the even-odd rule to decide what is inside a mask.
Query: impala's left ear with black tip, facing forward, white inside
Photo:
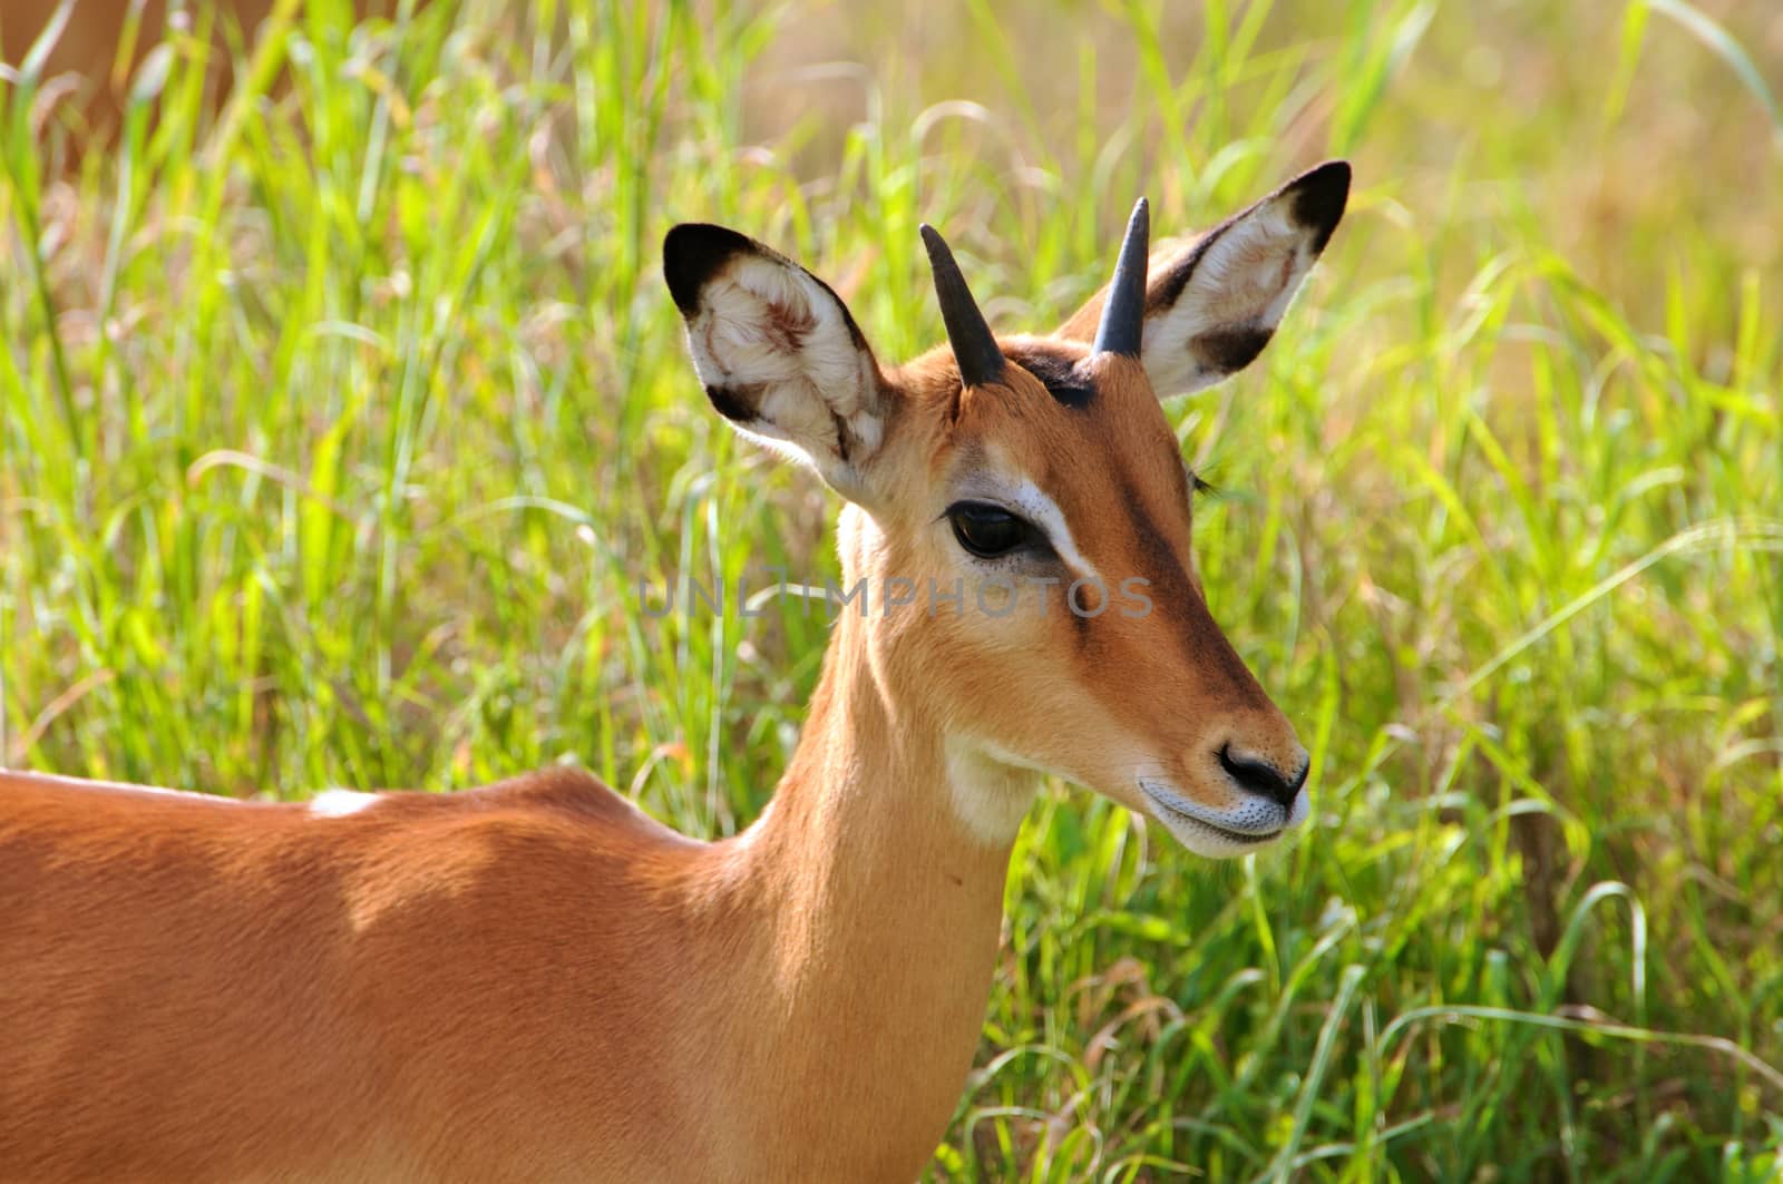
[[[858,501],[888,399],[836,292],[754,239],[701,223],[663,239],[663,278],[713,410]]]

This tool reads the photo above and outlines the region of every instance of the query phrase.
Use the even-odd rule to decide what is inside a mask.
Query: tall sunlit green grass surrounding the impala
[[[904,357],[918,221],[1043,330],[1139,193],[1180,234],[1346,155],[1264,360],[1171,408],[1316,826],[1211,865],[1050,788],[931,1173],[1779,1179],[1772,4],[538,7],[287,4],[219,109],[200,9],[112,150],[0,86],[0,763],[578,761],[733,833],[826,628],[637,585],[834,576],[836,505],[706,408],[663,230]]]

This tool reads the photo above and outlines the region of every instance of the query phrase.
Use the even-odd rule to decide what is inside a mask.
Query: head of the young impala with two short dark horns
[[[875,676],[933,715],[957,765],[1054,772],[1207,856],[1305,818],[1307,752],[1202,597],[1195,476],[1159,398],[1262,351],[1348,187],[1348,164],[1323,164],[1150,260],[1141,201],[1113,282],[1047,335],[995,337],[924,226],[949,346],[895,369],[797,264],[720,226],[669,232],[706,398],[847,497],[843,572],[868,581]],[[988,840],[1013,838],[1025,806],[1007,783],[956,776]]]

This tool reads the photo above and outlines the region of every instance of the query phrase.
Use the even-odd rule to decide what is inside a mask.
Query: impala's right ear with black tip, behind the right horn
[[[1159,398],[1211,387],[1262,353],[1348,196],[1350,164],[1328,160],[1198,239],[1152,255],[1141,358]],[[1088,342],[1105,300],[1104,287],[1059,337]]]

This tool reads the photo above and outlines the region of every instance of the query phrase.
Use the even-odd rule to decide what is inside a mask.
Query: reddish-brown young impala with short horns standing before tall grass
[[[1050,335],[993,337],[925,226],[949,346],[900,367],[788,259],[670,230],[706,398],[847,501],[845,580],[995,612],[840,613],[774,799],[711,843],[569,769],[291,804],[0,774],[0,1179],[915,1179],[1043,774],[1204,856],[1307,817],[1159,396],[1257,357],[1348,187],[1150,262],[1141,201]],[[1097,612],[1120,581],[1150,610]]]

